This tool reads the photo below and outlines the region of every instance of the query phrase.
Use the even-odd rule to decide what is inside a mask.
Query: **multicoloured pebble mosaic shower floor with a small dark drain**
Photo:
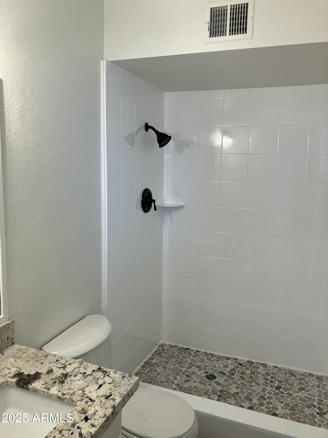
[[[328,376],[171,344],[159,344],[135,374],[152,385],[328,429]]]

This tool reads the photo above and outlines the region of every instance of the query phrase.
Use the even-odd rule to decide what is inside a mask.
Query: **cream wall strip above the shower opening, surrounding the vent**
[[[328,41],[325,0],[255,0],[253,39],[204,44],[205,3],[207,0],[105,0],[105,59]]]

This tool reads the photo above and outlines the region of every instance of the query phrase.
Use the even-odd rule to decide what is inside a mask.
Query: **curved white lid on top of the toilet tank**
[[[65,357],[79,357],[98,347],[112,332],[110,321],[103,315],[89,315],[65,330],[42,349]]]

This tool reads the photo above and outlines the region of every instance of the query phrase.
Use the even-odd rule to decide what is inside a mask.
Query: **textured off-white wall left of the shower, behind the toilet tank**
[[[9,316],[32,347],[100,311],[103,8],[0,2]]]

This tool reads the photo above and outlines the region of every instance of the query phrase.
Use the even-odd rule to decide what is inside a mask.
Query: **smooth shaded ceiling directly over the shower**
[[[162,91],[328,83],[328,43],[156,56],[113,62]]]

